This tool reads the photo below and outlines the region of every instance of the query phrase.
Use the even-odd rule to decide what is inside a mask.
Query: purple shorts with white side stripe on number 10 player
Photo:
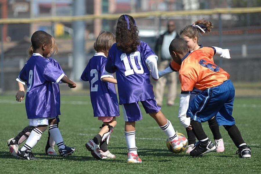
[[[157,106],[155,99],[140,101],[146,113],[155,113],[160,111],[160,106]],[[142,113],[138,102],[122,104],[123,115],[125,122],[134,122],[142,119]]]

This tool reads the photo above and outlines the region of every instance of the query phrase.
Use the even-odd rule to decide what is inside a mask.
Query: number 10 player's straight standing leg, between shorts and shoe
[[[128,153],[137,154],[137,147],[135,142],[135,121],[126,122],[125,121],[125,139],[128,147]]]

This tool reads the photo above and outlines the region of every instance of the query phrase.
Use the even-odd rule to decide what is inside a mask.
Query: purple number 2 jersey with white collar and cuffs
[[[101,80],[103,77],[113,78],[112,74],[105,74],[106,60],[107,58],[103,54],[96,53],[88,62],[80,78],[80,80],[90,83],[90,99],[94,117],[119,116],[115,86]]]

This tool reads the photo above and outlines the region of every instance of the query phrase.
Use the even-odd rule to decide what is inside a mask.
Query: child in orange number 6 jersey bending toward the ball
[[[190,155],[196,157],[215,150],[201,122],[206,122],[216,115],[218,124],[224,126],[238,147],[239,157],[251,157],[251,149],[244,142],[232,117],[235,88],[229,80],[230,75],[213,62],[215,54],[230,58],[229,50],[203,47],[189,53],[186,42],[178,38],[171,42],[169,51],[173,61],[180,65],[179,77],[182,92],[178,117],[182,125],[192,129],[200,141]],[[189,102],[193,88],[200,89],[202,92]]]

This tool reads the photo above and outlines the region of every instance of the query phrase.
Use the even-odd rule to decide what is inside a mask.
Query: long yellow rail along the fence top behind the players
[[[261,7],[250,8],[214,8],[207,10],[180,10],[180,11],[154,11],[154,12],[138,12],[130,14],[134,18],[159,17],[159,16],[186,16],[186,15],[211,15],[211,14],[233,14],[233,13],[260,13]],[[0,19],[3,23],[35,23],[35,22],[72,22],[86,21],[93,19],[118,19],[122,14],[87,14],[84,16],[55,16],[55,17],[38,17],[38,18],[5,18]]]

